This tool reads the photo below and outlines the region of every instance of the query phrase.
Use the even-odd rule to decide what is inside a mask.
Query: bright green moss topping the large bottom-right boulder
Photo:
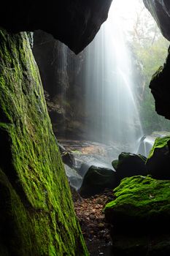
[[[124,178],[114,193],[116,199],[107,203],[104,211],[113,209],[124,216],[147,220],[161,214],[170,217],[170,181],[158,181],[150,176]]]

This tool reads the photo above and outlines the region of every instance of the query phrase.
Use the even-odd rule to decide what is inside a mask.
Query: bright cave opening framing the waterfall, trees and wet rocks
[[[155,138],[169,135],[170,123],[155,112],[149,89],[168,48],[142,0],[113,1],[109,18],[77,56],[49,34],[34,33],[47,108],[74,189],[90,166],[113,170],[121,152],[147,157]],[[109,255],[109,246],[94,246],[85,230],[91,255]]]

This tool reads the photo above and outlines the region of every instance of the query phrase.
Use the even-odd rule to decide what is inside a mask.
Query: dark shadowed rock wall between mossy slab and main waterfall
[[[57,138],[82,138],[85,130],[85,51],[75,55],[44,31],[34,31],[34,58]]]

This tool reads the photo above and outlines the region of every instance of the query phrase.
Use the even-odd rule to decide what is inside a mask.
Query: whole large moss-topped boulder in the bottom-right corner
[[[169,255],[170,181],[124,178],[104,209],[116,255]]]

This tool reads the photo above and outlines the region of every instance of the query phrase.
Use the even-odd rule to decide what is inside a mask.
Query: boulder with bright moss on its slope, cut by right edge
[[[170,137],[156,138],[147,158],[147,174],[152,178],[170,179]]]

